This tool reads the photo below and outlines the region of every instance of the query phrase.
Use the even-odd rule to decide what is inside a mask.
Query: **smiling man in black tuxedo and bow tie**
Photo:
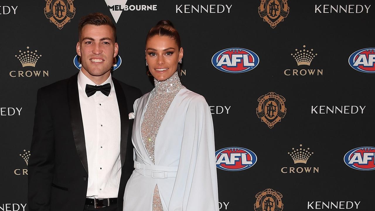
[[[133,102],[139,89],[111,77],[116,28],[94,13],[78,26],[82,68],[38,90],[28,164],[30,211],[121,211],[133,171]]]

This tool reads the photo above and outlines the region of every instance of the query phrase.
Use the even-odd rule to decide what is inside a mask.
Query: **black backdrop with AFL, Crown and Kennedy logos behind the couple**
[[[0,211],[24,211],[36,91],[80,68],[80,18],[117,26],[113,75],[139,87],[168,19],[183,84],[207,99],[220,211],[374,210],[371,0],[1,0]]]

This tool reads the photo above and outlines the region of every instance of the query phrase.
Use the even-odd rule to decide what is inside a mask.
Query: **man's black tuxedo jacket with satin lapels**
[[[87,178],[87,155],[78,74],[42,87],[37,92],[31,155],[28,161],[30,211],[83,211]],[[141,91],[112,78],[121,121],[121,180],[118,210],[123,209],[126,182],[133,171],[131,131],[133,102]]]

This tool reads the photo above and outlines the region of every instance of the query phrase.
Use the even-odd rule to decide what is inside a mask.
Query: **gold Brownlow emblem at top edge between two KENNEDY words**
[[[264,21],[270,24],[272,29],[289,14],[288,0],[261,0],[258,12]]]

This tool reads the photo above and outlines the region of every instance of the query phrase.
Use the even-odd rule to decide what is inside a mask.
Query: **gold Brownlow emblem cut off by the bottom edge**
[[[270,188],[255,195],[257,201],[254,204],[255,211],[282,211],[284,208],[281,202],[282,194]]]

